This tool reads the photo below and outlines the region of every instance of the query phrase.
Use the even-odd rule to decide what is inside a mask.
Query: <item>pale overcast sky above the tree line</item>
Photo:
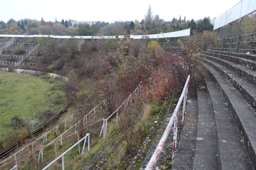
[[[173,17],[199,20],[218,17],[240,0],[1,0],[0,20],[24,18],[45,21],[99,20],[141,21],[151,5],[153,15],[165,21]]]

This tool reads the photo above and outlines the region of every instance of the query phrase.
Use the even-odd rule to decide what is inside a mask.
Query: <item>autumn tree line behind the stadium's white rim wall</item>
[[[153,15],[151,6],[145,17],[139,21],[116,21],[113,23],[96,22],[93,25],[78,24],[72,26],[70,20],[61,21],[41,21],[32,19],[14,20],[10,19],[7,23],[0,21],[0,34],[54,34],[70,36],[87,36],[95,34],[103,35],[124,35],[124,34],[158,34],[161,32],[172,32],[191,28],[191,31],[202,33],[212,31],[213,25],[209,17],[200,20],[186,20],[186,16],[181,19],[173,17],[172,21],[165,21],[158,14]]]

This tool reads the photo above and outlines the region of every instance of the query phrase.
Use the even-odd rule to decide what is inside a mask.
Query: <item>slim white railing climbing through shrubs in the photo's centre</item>
[[[118,120],[118,114],[119,114],[119,109],[121,107],[124,107],[124,110],[127,108],[129,102],[131,103],[132,100],[132,96],[136,93],[139,93],[139,91],[141,90],[142,85],[139,84],[138,87],[128,96],[128,98],[110,115],[108,116],[107,119],[103,118],[103,124],[102,124],[102,129],[101,132],[99,134],[99,136],[102,135],[102,131],[103,131],[103,139],[105,139],[105,136],[107,135],[107,127],[108,127],[108,119],[110,119],[114,114],[116,114],[116,121]]]

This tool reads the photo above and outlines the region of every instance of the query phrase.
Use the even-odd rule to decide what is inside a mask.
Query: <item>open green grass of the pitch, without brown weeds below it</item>
[[[35,119],[38,111],[55,114],[66,104],[64,82],[45,76],[0,72],[0,138],[12,129],[12,117],[30,122],[35,130],[42,122]]]

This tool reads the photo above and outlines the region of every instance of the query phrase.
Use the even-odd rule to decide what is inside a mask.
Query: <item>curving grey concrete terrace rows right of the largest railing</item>
[[[181,53],[177,44],[164,48]],[[172,169],[255,169],[256,55],[207,51],[201,60],[204,81],[193,106],[198,115],[195,138],[182,137]],[[194,147],[187,144],[192,139]]]

